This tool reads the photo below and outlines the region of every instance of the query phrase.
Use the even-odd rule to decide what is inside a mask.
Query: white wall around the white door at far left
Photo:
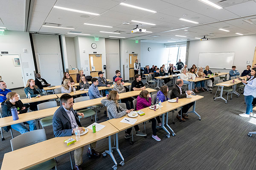
[[[23,52],[24,48],[27,50],[27,52],[25,53]],[[21,31],[5,31],[4,35],[0,36],[0,51],[9,51],[9,54],[20,56],[24,86],[26,85],[28,79],[35,78],[35,66],[31,43],[29,39],[29,33]],[[2,65],[3,63],[1,63],[1,67]],[[28,76],[24,76],[26,75],[26,73],[28,74]]]

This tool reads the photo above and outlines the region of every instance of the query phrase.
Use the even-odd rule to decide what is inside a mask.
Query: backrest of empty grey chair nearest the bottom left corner
[[[44,129],[23,133],[11,139],[12,151],[47,140]]]

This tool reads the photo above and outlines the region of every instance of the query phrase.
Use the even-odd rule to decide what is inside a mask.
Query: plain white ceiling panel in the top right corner
[[[250,1],[225,8],[241,17],[256,14],[256,2]]]

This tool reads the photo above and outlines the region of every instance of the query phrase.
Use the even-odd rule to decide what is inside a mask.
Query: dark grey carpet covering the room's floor
[[[216,90],[216,88],[215,88]],[[125,158],[125,165],[119,170],[255,170],[256,169],[256,135],[248,137],[249,131],[256,131],[256,118],[238,116],[246,109],[244,96],[233,96],[227,104],[212,98],[214,92],[200,92],[204,96],[197,102],[196,111],[201,115],[201,121],[195,114],[189,114],[189,120],[179,122],[175,118],[172,124],[172,114],[169,114],[169,125],[176,136],[166,137],[162,129],[157,131],[161,141],[151,138],[151,123],[146,122],[147,138],[134,137],[134,144],[124,139],[124,132],[119,133],[119,149]],[[226,97],[226,95],[224,95]],[[177,111],[175,112],[175,116]],[[105,121],[103,110],[99,113],[99,122]],[[252,122],[252,123],[250,123]],[[83,119],[82,125],[90,125],[90,119]],[[143,130],[143,125],[140,125]],[[47,138],[53,137],[52,127],[46,127]],[[14,136],[19,133],[14,131]],[[5,141],[1,141],[0,159],[11,151],[10,133],[4,132]],[[84,149],[82,167],[86,170],[111,170],[113,161],[110,156],[89,159]],[[96,150],[102,153],[108,149],[108,139],[97,142]],[[121,161],[114,151],[116,161]],[[69,155],[56,158],[58,170],[70,170]],[[74,160],[73,160],[74,161]],[[11,167],[10,167],[11,169]]]

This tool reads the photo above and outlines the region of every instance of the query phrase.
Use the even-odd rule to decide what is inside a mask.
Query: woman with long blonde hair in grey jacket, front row
[[[117,119],[117,118],[125,116],[127,113],[130,113],[131,111],[133,111],[133,109],[127,110],[127,109],[122,108],[118,104],[118,102],[117,102],[118,100],[119,100],[119,94],[117,93],[117,91],[110,91],[108,94],[108,98],[103,99],[101,101],[102,104],[105,105],[108,109],[109,119]],[[134,125],[134,128],[136,130],[137,136],[147,136],[146,134],[144,134],[140,131],[140,127],[138,125]],[[131,138],[131,130],[132,130],[131,128],[125,130],[125,139]]]

